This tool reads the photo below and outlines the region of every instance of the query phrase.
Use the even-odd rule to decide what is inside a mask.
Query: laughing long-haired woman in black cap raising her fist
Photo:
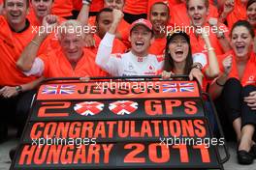
[[[218,76],[219,68],[214,48],[211,47],[207,33],[203,31],[201,36],[207,45],[208,56],[204,53],[192,55],[189,36],[185,32],[175,31],[168,36],[163,77],[170,77],[171,74],[189,74],[193,68],[202,70],[208,78]],[[201,67],[193,63],[200,63]],[[203,87],[206,87],[206,84]]]

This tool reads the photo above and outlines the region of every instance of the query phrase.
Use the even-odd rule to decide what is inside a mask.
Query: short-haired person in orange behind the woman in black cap
[[[225,51],[230,50],[226,26],[218,23],[216,19],[208,19],[208,0],[188,0],[186,7],[192,26],[185,30],[189,34],[190,41],[193,42],[193,53],[207,52],[204,40],[197,33],[202,32],[202,29],[208,30],[209,40],[217,55],[224,54]],[[215,23],[212,23],[211,20],[215,20]]]

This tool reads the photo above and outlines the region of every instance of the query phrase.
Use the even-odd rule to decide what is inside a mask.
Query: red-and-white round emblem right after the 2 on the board
[[[74,110],[82,116],[93,116],[99,114],[104,108],[104,104],[98,101],[84,101],[77,103]]]

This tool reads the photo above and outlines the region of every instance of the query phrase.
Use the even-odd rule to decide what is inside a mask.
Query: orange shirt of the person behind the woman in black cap
[[[211,28],[208,23],[206,24],[206,26]],[[225,30],[225,36],[226,36],[226,38],[228,38],[228,36],[229,36],[228,28],[224,24],[220,24],[219,28],[221,28],[222,30]],[[206,43],[201,36],[197,37],[196,34],[193,33],[193,31],[188,33],[188,35],[189,35],[190,42],[191,42],[192,53],[196,53],[196,52],[207,53],[208,52]],[[214,48],[216,55],[224,54],[224,51],[222,49],[222,46],[221,46],[219,40],[217,39],[215,33],[213,33],[212,31],[209,31],[209,41],[211,43],[211,46]]]

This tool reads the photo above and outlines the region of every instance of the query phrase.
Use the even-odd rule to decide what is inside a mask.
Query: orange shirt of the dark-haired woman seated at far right
[[[239,72],[238,72],[238,66],[237,66],[237,61],[236,61],[236,54],[233,50],[227,52],[224,55],[218,56],[219,59],[219,69],[220,71],[224,71],[222,61],[228,57],[229,55],[233,56],[232,59],[232,69],[229,73],[230,78],[239,78]],[[242,86],[246,85],[256,85],[256,63],[255,63],[255,53],[251,52],[250,58],[246,64],[245,70],[243,71],[243,76],[240,79],[240,83]]]

